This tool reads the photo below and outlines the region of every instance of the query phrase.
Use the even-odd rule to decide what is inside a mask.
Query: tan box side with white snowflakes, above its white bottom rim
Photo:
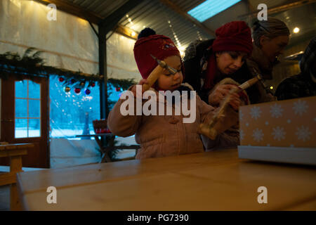
[[[239,108],[240,145],[315,148],[315,112],[316,96],[244,105]]]

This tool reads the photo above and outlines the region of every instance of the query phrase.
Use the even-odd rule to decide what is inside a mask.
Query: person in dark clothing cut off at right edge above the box
[[[305,49],[300,61],[301,73],[284,79],[275,91],[277,100],[316,96],[316,37]]]

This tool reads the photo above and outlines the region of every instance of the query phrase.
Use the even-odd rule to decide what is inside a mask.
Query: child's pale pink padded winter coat
[[[107,126],[117,136],[126,137],[136,134],[136,142],[140,144],[136,159],[204,151],[198,127],[200,123],[211,119],[214,108],[202,101],[199,96],[196,96],[196,119],[192,123],[183,123],[183,117],[190,115],[184,116],[182,112],[180,115],[175,115],[174,105],[172,115],[166,115],[165,112],[164,115],[145,116],[134,113],[134,115],[123,116],[120,108],[124,101],[126,100],[119,99],[114,105],[107,117]],[[143,100],[143,104],[146,101]],[[166,109],[166,101],[164,105]],[[187,105],[190,106],[190,99]]]

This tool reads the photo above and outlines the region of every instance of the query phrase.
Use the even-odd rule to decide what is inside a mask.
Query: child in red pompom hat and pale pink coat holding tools
[[[176,70],[175,74],[172,74],[168,70],[159,72],[157,82],[154,83],[151,89],[155,96],[159,95],[158,91],[171,91],[173,93],[174,91],[192,90],[188,86],[181,85],[183,82],[183,64],[180,58],[180,52],[173,44],[173,41],[164,35],[155,34],[155,32],[149,28],[140,32],[134,46],[136,64],[138,65],[140,75],[143,77],[139,84],[146,83],[147,77],[158,66],[157,61],[154,60],[151,55],[159,60],[164,60],[167,65]],[[137,111],[139,96],[137,95],[136,86],[131,86],[129,91],[134,93],[131,105],[136,105]],[[152,100],[151,98],[152,97],[150,97],[150,100]],[[185,98],[185,96],[182,95],[180,98]],[[164,97],[162,99],[164,99]],[[117,136],[131,136],[136,134],[136,142],[140,144],[136,159],[199,153],[204,151],[203,143],[199,135],[199,124],[211,120],[214,108],[204,103],[199,96],[194,94],[193,96],[187,96],[187,105],[190,105],[190,110],[194,110],[195,112],[195,118],[192,122],[184,122],[187,115],[183,113],[183,105],[181,105],[182,110],[180,115],[178,115],[175,113],[176,108],[178,108],[176,107],[176,103],[172,103],[170,106],[166,101],[161,103],[160,98],[159,100],[157,100],[157,98],[154,99],[154,105],[157,105],[159,110],[161,105],[164,105],[164,115],[160,115],[160,113],[159,115],[139,115],[138,113],[123,115],[121,108],[124,107],[125,101],[127,100],[120,98],[119,101],[115,103],[114,108],[107,117],[107,126],[112,133]],[[234,101],[237,101],[237,99],[234,99]],[[192,102],[195,102],[195,104],[191,105]],[[145,105],[143,99],[141,99],[140,105]],[[172,115],[165,113],[165,109],[170,107],[173,112]],[[133,108],[132,111],[134,110],[135,108]],[[218,140],[221,140],[220,134],[231,127],[232,123],[235,124],[236,122],[227,119],[230,117],[230,113],[235,113],[235,111],[232,110],[232,108],[228,108],[225,112],[225,117],[221,118],[215,125],[218,131]],[[223,147],[225,147],[225,144],[229,143],[229,141],[218,140],[213,141],[216,143],[216,146],[223,143]]]

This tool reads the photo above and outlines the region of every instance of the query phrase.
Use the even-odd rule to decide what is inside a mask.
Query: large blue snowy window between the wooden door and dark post
[[[96,85],[86,87],[79,94],[74,88],[65,91],[65,86],[58,77],[49,78],[50,97],[50,136],[52,138],[75,138],[81,134],[95,134],[93,120],[100,120],[100,89]]]

